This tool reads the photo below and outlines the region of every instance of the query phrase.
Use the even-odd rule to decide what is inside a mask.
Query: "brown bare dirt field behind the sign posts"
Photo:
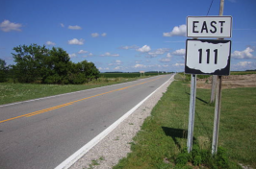
[[[207,79],[197,79],[197,88],[212,87],[212,76]],[[256,74],[222,76],[222,88],[256,87]]]

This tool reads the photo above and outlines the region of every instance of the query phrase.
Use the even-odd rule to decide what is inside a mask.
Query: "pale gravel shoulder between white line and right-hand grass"
[[[119,124],[112,133],[74,163],[70,169],[109,169],[115,166],[119,159],[126,157],[131,152],[130,143],[133,141],[133,137],[141,130],[144,119],[150,116],[151,110],[166,92],[173,79],[174,76],[149,97],[140,108]]]

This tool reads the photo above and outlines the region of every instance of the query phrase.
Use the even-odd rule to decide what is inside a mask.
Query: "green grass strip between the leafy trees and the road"
[[[88,84],[13,84],[0,83],[0,105],[53,96],[94,87],[130,82],[139,78],[99,78]]]

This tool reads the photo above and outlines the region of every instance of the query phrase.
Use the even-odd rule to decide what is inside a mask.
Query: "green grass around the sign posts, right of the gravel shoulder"
[[[197,88],[193,133],[193,147],[209,151],[215,111],[214,106],[208,104],[210,94],[210,89]],[[222,90],[218,146],[226,150],[229,168],[241,168],[238,163],[256,168],[255,100],[255,87]],[[180,168],[175,166],[175,161],[186,148],[189,106],[189,85],[183,81],[173,82],[130,143],[132,153],[114,168]],[[187,165],[183,168],[215,167]]]

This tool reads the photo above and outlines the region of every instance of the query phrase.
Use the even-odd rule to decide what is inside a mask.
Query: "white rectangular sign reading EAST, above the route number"
[[[188,16],[188,37],[231,37],[231,16]]]

